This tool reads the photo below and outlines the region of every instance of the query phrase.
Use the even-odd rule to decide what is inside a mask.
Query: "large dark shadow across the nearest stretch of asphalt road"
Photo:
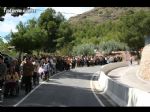
[[[100,106],[90,88],[42,84],[19,107]]]

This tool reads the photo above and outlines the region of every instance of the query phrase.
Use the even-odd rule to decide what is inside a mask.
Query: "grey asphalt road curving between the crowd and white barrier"
[[[111,106],[109,98],[94,92],[93,81],[97,80],[100,66],[76,68],[58,73],[48,82],[42,82],[27,96],[16,102],[4,102],[4,106],[15,107],[76,107]],[[95,73],[95,74],[94,74]],[[94,74],[94,77],[93,77]]]

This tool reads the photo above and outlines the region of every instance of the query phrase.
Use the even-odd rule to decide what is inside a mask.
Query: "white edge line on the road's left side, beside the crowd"
[[[63,71],[63,72],[65,72],[65,71]],[[56,75],[58,75],[58,74],[60,74],[60,73],[63,73],[63,72],[59,72],[59,73],[56,73],[56,74],[54,74],[53,76],[51,76],[50,78],[52,78],[52,77],[54,77],[54,76],[56,76]],[[28,93],[23,99],[21,99],[17,104],[15,104],[15,105],[13,105],[13,107],[17,107],[19,104],[21,104],[25,99],[27,99],[37,88],[39,88],[40,87],[40,85],[42,85],[42,84],[45,84],[45,82],[41,82],[38,86],[36,86],[30,93]]]

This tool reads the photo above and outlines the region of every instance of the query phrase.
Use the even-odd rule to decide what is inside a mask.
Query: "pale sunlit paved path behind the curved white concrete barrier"
[[[138,70],[139,65],[134,64],[127,67],[114,69],[108,73],[108,76],[126,86],[150,92],[150,81],[141,79],[137,75]]]

